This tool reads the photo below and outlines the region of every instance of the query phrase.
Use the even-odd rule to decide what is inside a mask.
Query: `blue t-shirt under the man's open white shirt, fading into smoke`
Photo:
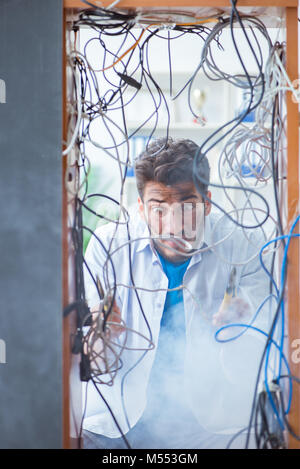
[[[168,288],[182,285],[190,259],[175,265],[161,255],[159,258],[169,280]],[[149,441],[155,442],[155,446],[147,447],[185,448],[185,443],[182,443],[183,423],[187,425],[191,434],[196,434],[199,424],[190,410],[188,396],[184,390],[185,315],[182,289],[167,292],[160,325],[157,350],[148,385],[147,407],[141,420],[143,434],[148,444]],[[179,434],[178,428],[181,429]],[[174,437],[175,443],[170,440]],[[163,446],[166,444],[168,446]],[[173,444],[175,446],[172,446]],[[176,446],[178,444],[179,446]]]

